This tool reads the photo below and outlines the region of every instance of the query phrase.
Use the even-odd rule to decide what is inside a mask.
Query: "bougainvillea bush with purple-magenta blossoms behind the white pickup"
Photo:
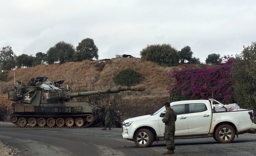
[[[228,58],[226,63],[213,67],[173,68],[167,74],[170,81],[174,79],[174,83],[169,83],[167,88],[170,101],[206,100],[213,97],[223,104],[233,103],[234,81],[230,75],[233,62],[233,58]]]

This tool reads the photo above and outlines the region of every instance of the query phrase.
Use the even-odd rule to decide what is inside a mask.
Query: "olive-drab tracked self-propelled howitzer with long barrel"
[[[68,102],[74,97],[144,91],[144,85],[125,88],[109,88],[98,91],[71,93],[68,86],[60,88],[64,81],[54,84],[47,77],[36,77],[36,86],[18,82],[8,92],[14,101],[11,122],[20,127],[87,127],[99,118],[99,109],[86,102]]]

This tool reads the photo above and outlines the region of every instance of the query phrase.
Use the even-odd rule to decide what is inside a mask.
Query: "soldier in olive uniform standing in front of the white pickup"
[[[175,134],[175,121],[177,119],[176,112],[171,109],[170,103],[165,103],[165,109],[167,110],[165,113],[165,117],[162,121],[165,123],[165,143],[168,151],[163,153],[174,154],[175,144],[174,144],[174,134]]]

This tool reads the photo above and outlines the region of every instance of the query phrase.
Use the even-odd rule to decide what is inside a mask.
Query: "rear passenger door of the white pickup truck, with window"
[[[208,133],[212,118],[210,109],[208,103],[195,102],[187,104],[189,134]]]

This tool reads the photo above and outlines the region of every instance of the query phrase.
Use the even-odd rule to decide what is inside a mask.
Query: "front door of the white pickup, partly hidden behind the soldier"
[[[186,104],[183,103],[183,104],[176,104],[171,106],[171,108],[177,114],[177,120],[175,122],[175,135],[188,134],[187,114],[185,114],[185,105]],[[166,112],[166,110],[164,110],[161,113],[164,113],[164,112]],[[163,123],[162,119],[164,117],[158,117],[158,118],[159,118],[160,133],[161,133],[161,136],[163,136],[165,132],[165,123]]]

